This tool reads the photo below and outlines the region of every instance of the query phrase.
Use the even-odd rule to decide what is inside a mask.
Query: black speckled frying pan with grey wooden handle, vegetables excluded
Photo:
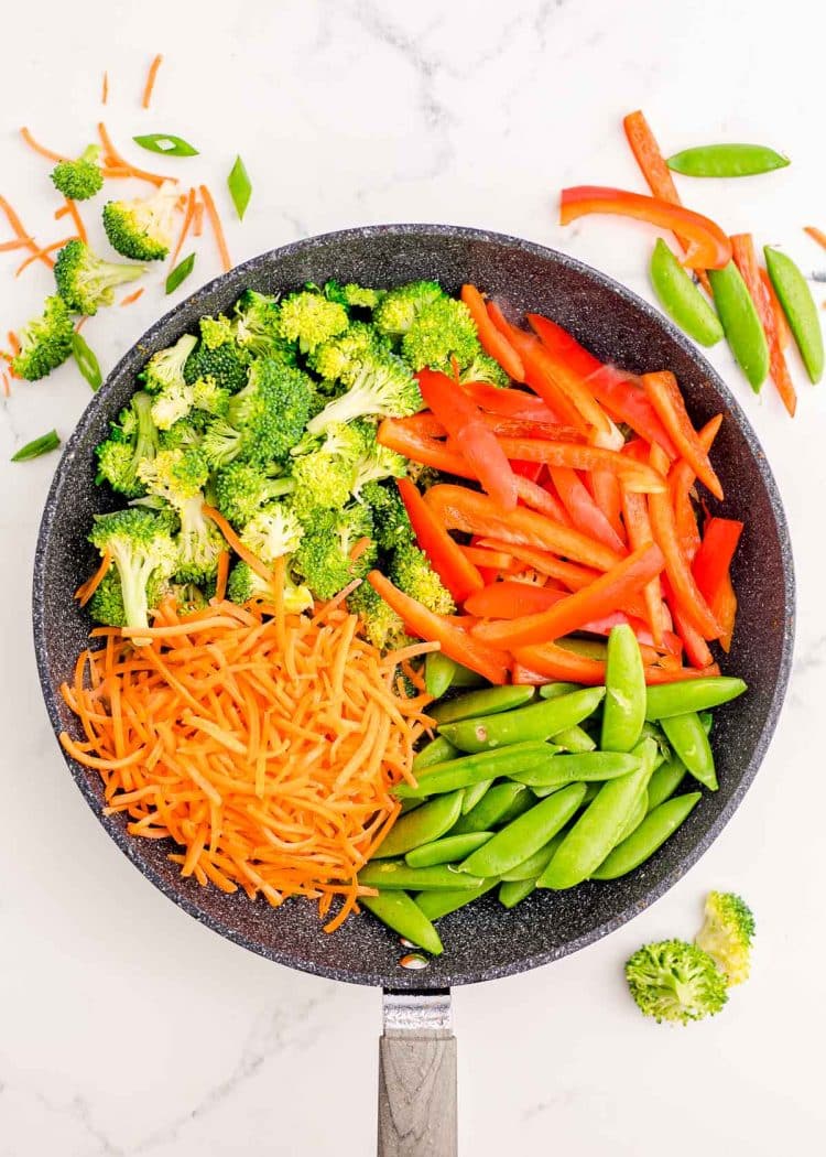
[[[98,776],[67,758],[78,787],[121,852],[190,915],[279,964],[382,986],[379,1154],[451,1157],[456,1044],[450,987],[534,968],[605,936],[671,887],[718,835],[757,774],[786,692],[794,639],[791,548],[774,479],[738,404],[698,351],[621,286],[561,253],[477,229],[398,224],[312,237],[238,266],[157,322],[115,368],[69,440],[43,516],[34,584],[35,647],[56,732],[79,735],[58,687],[87,643],[89,622],[72,592],[93,567],[86,541],[91,517],[110,501],[91,485],[93,451],[132,393],[137,371],[154,351],[194,330],[201,315],[227,310],[246,286],[278,293],[327,278],[376,286],[430,278],[451,292],[472,281],[519,315],[547,314],[603,361],[635,374],[668,367],[680,381],[695,423],[721,410],[727,413],[715,465],[727,515],[746,523],[733,574],[738,628],[724,665],[747,680],[748,693],[715,715],[720,790],[705,793],[676,835],[624,879],[582,884],[573,892],[536,892],[512,911],[486,897],[447,916],[440,926],[444,955],[423,971],[400,966],[405,949],[371,918],[351,919],[327,936],[315,906],[305,901],[274,911],[250,902],[241,891],[226,896],[182,878],[167,858],[165,841],[127,835],[123,815],[103,815]]]

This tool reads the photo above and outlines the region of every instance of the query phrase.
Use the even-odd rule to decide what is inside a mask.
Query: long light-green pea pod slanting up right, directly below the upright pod
[[[588,879],[614,847],[651,778],[656,744],[652,739],[643,739],[634,752],[639,759],[637,769],[610,780],[600,788],[599,795],[562,840],[537,880],[537,887],[574,887]]]

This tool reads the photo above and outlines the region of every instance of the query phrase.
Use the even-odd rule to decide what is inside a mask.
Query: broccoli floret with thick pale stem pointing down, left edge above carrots
[[[171,576],[177,560],[169,519],[139,507],[97,515],[89,541],[101,554],[108,551],[112,558],[120,580],[125,626],[148,627],[157,584]],[[113,613],[112,603],[106,605]],[[140,647],[149,640],[132,641]]]

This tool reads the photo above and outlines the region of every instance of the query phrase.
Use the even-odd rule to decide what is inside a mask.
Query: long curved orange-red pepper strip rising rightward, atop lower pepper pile
[[[508,650],[553,642],[571,631],[581,631],[591,619],[618,610],[628,595],[641,590],[661,573],[664,565],[659,547],[649,543],[622,559],[589,587],[561,599],[551,610],[510,622],[480,622],[473,628],[473,638]]]

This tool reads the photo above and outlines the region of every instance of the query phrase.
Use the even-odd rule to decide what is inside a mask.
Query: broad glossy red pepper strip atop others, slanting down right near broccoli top
[[[416,375],[421,396],[456,439],[464,458],[484,489],[503,510],[516,509],[516,479],[494,434],[481,421],[481,411],[445,374],[422,369]]]

